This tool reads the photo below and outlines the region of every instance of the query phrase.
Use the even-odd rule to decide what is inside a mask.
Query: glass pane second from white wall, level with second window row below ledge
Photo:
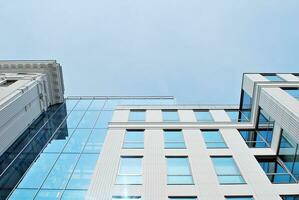
[[[79,154],[61,154],[55,163],[53,169],[45,180],[42,188],[45,189],[63,189],[65,188]]]

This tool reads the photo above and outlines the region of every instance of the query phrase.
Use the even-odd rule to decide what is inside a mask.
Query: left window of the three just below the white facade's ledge
[[[127,130],[123,144],[124,149],[143,149],[144,130]]]

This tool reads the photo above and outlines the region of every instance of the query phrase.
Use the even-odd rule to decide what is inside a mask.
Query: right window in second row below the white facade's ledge
[[[213,156],[211,158],[220,184],[245,184],[245,180],[231,156]]]

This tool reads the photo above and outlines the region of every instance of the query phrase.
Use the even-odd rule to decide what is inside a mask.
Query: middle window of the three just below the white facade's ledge
[[[164,130],[165,149],[185,149],[184,136],[181,130]]]

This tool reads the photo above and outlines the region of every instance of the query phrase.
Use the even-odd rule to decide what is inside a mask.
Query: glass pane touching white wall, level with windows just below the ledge
[[[93,129],[88,141],[85,144],[83,153],[100,153],[107,129]]]

